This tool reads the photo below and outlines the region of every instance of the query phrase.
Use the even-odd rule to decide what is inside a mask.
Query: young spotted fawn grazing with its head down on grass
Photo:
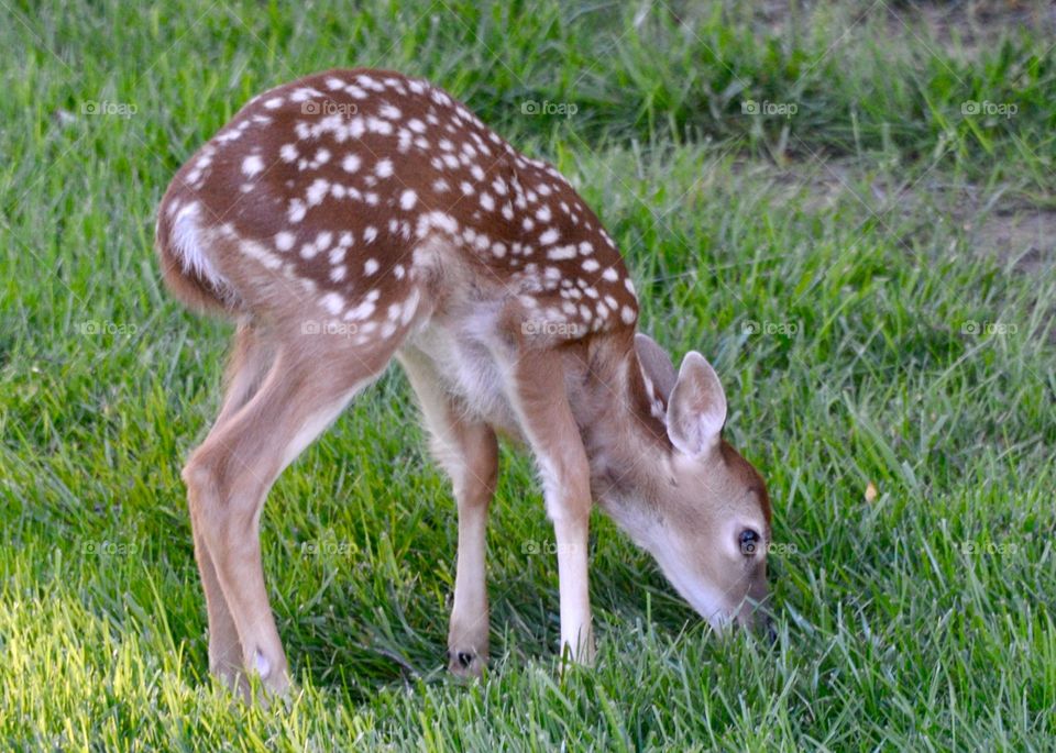
[[[588,664],[592,501],[716,627],[767,594],[770,502],[721,436],[691,352],[636,334],[635,288],[597,217],[426,81],[330,70],[252,99],[162,201],[165,281],[238,322],[224,399],[183,472],[210,669],[284,691],[260,518],[282,470],[395,357],[458,506],[449,666],[487,661],[485,525],[496,435],[528,445],[554,527],[561,646]]]

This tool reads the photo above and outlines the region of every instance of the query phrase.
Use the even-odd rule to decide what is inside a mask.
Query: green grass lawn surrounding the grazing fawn
[[[990,21],[980,43],[850,2],[654,3],[636,25],[641,7],[0,10],[0,746],[1054,746],[1052,30]],[[266,507],[302,694],[242,708],[210,682],[178,469],[230,329],[161,289],[153,212],[250,96],[353,65],[428,76],[556,162],[645,328],[716,364],[774,500],[776,645],[711,634],[598,517],[598,666],[562,676],[556,563],[525,545],[552,534],[506,453],[495,660],[449,678],[453,503],[394,369]],[[135,111],[85,112],[103,101]]]

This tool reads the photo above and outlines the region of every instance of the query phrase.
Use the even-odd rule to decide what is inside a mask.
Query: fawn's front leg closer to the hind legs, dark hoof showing
[[[447,470],[459,507],[454,605],[448,631],[448,668],[479,676],[487,664],[487,578],[484,566],[487,509],[498,476],[495,432],[466,417],[444,392],[432,362],[407,348],[399,355],[432,435],[432,454]]]

